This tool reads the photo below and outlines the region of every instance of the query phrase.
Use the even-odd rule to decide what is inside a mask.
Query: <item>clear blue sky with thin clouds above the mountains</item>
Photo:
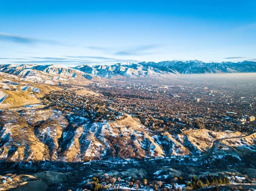
[[[256,0],[0,4],[0,64],[256,61]]]

